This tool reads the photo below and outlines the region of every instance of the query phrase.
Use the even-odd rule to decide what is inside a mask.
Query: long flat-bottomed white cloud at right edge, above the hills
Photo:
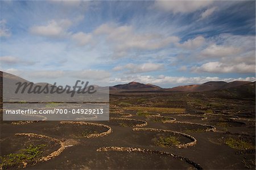
[[[209,72],[209,73],[255,73],[255,63],[221,63],[219,61],[209,62],[200,67],[193,67],[192,72]]]

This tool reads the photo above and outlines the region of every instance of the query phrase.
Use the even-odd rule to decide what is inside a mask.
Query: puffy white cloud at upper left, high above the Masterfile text
[[[69,34],[67,30],[71,25],[72,22],[69,19],[51,20],[44,26],[31,27],[30,32],[39,36],[63,38]]]

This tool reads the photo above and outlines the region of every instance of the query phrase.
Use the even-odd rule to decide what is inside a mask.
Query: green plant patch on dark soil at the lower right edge
[[[255,146],[252,143],[242,139],[228,138],[225,140],[225,144],[237,150],[255,150]]]

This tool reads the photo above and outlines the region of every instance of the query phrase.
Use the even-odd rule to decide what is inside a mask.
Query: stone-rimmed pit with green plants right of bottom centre
[[[157,128],[133,128],[132,143],[139,146],[186,148],[196,144],[196,139],[181,132]]]

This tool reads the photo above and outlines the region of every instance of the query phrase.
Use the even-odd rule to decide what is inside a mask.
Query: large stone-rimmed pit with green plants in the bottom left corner
[[[38,134],[15,134],[1,140],[1,168],[18,169],[47,161],[64,150],[60,140]]]

